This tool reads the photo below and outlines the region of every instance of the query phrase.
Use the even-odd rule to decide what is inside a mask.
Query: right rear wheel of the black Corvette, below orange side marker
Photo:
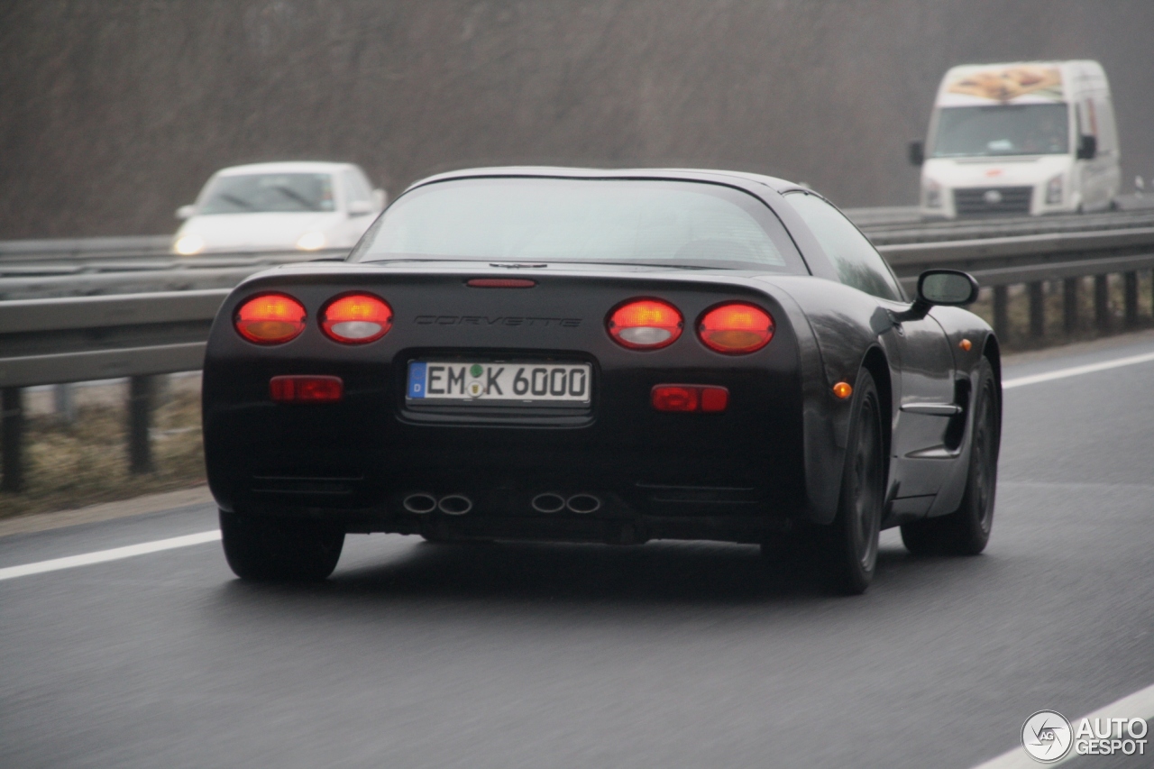
[[[857,374],[846,441],[846,466],[833,524],[817,529],[823,568],[830,587],[861,595],[877,568],[877,540],[885,503],[885,442],[882,409],[874,378]]]

